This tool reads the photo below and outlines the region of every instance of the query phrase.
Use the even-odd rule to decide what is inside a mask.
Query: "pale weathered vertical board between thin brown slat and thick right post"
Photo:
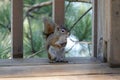
[[[107,61],[108,53],[108,27],[109,27],[109,4],[108,0],[97,2],[97,57]]]

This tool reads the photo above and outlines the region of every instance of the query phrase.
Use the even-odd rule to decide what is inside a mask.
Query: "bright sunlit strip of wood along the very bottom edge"
[[[119,80],[119,79],[120,79],[119,74],[0,78],[0,80]]]

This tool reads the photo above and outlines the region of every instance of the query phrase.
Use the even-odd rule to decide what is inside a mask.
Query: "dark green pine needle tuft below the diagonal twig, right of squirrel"
[[[90,15],[82,19],[73,29],[73,34],[79,41],[91,41],[92,39],[92,24]]]

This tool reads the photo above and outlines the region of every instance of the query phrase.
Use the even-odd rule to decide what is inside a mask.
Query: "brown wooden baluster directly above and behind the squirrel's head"
[[[53,19],[58,25],[64,24],[64,0],[53,1]]]

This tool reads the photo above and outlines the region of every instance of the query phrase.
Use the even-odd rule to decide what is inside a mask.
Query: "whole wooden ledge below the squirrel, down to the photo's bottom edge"
[[[120,80],[120,68],[110,68],[107,63],[86,60],[80,64],[39,64],[38,60],[10,60],[6,62],[14,62],[11,65],[0,64],[0,80]]]

